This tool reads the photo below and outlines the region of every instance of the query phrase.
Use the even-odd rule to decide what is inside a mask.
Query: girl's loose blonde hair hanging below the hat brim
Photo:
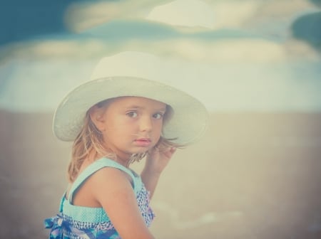
[[[108,100],[104,100],[102,102],[98,102],[96,105],[98,107],[103,107],[106,105]],[[81,132],[79,132],[78,136],[73,142],[73,146],[71,149],[71,161],[68,164],[68,181],[73,182],[75,181],[76,177],[78,176],[79,170],[81,169],[81,165],[83,161],[87,158],[87,156],[94,152],[97,155],[101,155],[110,159],[116,159],[116,154],[111,150],[108,151],[106,147],[104,147],[103,142],[103,134],[101,131],[97,129],[96,125],[93,123],[90,117],[90,110],[86,112],[86,116],[83,121],[83,127],[81,128]],[[163,124],[165,124],[170,118],[170,112],[172,109],[169,105],[166,105],[166,112],[163,118]],[[156,144],[156,147],[162,151],[167,149],[168,147],[176,147],[176,148],[183,148],[184,145],[176,144],[173,142],[175,139],[165,139],[165,137],[161,136]],[[141,161],[148,152],[141,153],[141,154],[133,154],[131,156],[130,164],[135,161]]]

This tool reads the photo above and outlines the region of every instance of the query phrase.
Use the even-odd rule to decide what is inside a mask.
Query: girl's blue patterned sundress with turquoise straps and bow
[[[63,194],[58,215],[47,218],[44,221],[45,228],[51,229],[49,239],[120,238],[103,208],[89,208],[72,204],[73,196],[81,184],[103,167],[120,169],[131,176],[133,179],[133,191],[136,195],[141,215],[146,225],[151,225],[155,215],[149,206],[149,192],[143,185],[141,177],[116,161],[102,158],[94,161],[93,164],[79,174],[76,181],[73,182],[68,200],[66,199],[66,192]]]

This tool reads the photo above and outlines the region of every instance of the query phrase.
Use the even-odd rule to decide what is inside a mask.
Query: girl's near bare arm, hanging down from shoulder
[[[123,239],[152,239],[138,208],[126,173],[114,168],[98,170],[89,178],[93,198],[101,204]]]

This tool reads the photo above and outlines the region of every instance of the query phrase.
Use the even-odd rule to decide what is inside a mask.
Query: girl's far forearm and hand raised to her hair
[[[141,172],[141,179],[146,189],[151,193],[151,198],[162,171],[165,169],[165,166],[167,166],[168,161],[170,161],[175,151],[176,149],[174,147],[162,151],[154,147],[151,152],[149,152],[145,167]]]

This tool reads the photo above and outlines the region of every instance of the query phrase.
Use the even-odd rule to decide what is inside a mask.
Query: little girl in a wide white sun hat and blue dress
[[[175,149],[199,139],[208,114],[194,97],[153,80],[93,78],[58,105],[54,134],[73,141],[68,189],[49,238],[153,238],[149,205]],[[141,175],[129,168],[146,157]]]

